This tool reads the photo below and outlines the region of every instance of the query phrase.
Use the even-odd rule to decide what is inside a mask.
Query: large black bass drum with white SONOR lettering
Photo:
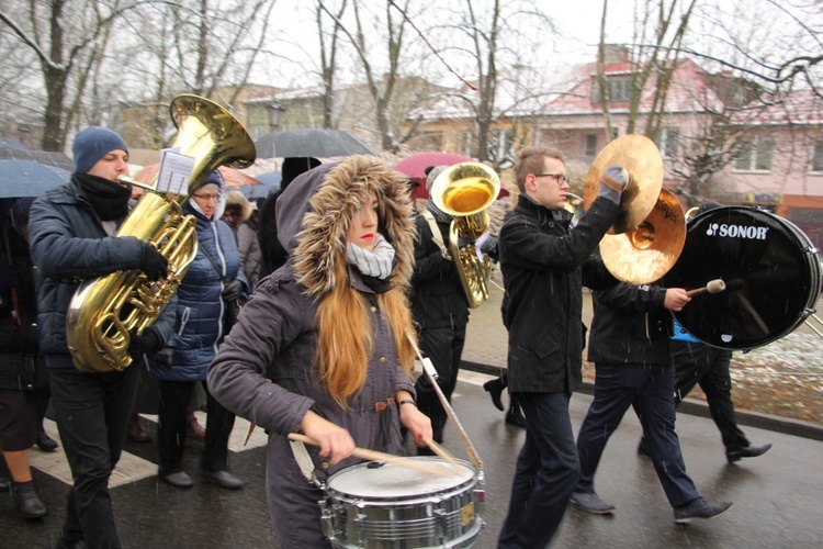
[[[753,349],[790,334],[814,312],[820,258],[792,223],[755,208],[723,206],[689,222],[665,284],[690,290],[715,279],[725,291],[694,296],[675,318],[704,344]]]

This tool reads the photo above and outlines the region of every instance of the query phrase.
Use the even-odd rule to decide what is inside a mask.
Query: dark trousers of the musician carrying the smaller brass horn
[[[435,366],[438,374],[437,384],[449,402],[458,384],[463,344],[465,344],[465,324],[420,330],[420,351]],[[417,407],[431,419],[435,441],[442,442],[443,428],[449,416],[428,376],[424,373],[418,378],[415,391],[417,391]]]

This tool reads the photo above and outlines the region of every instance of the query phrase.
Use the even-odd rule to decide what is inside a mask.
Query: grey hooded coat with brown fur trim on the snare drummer
[[[301,474],[286,439],[309,410],[346,428],[360,448],[403,452],[397,406],[382,404],[397,390],[414,394],[414,384],[399,366],[392,327],[354,269],[349,267],[349,280],[331,274],[335,261],[345,260],[349,221],[375,188],[385,204],[380,232],[396,253],[393,282],[407,289],[414,225],[404,178],[372,157],[323,165],[301,175],[279,198],[278,236],[292,257],[260,281],[208,369],[214,396],[270,433],[269,508],[283,547],[328,544],[317,505],[322,493]],[[374,327],[368,380],[349,410],[331,400],[315,366],[317,303],[338,283],[365,295]],[[316,448],[307,449],[320,480],[359,461],[349,458],[330,468]]]

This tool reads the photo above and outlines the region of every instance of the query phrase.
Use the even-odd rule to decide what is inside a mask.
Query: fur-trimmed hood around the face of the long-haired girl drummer
[[[415,224],[406,176],[373,156],[351,156],[301,173],[278,198],[278,238],[307,293],[320,298],[337,281],[335,266],[346,261],[349,222],[375,191],[379,232],[394,246],[392,282],[408,287],[414,267]]]

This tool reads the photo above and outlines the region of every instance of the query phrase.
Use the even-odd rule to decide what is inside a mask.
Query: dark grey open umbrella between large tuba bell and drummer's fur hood
[[[313,156],[374,155],[368,145],[339,130],[286,130],[263,135],[257,143],[258,158],[288,158]]]

